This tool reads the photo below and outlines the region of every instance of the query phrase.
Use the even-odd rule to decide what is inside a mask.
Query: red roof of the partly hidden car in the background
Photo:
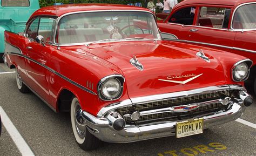
[[[189,4],[217,4],[217,5],[231,5],[238,6],[243,3],[255,2],[255,0],[184,0],[176,5],[176,8],[182,5]]]

